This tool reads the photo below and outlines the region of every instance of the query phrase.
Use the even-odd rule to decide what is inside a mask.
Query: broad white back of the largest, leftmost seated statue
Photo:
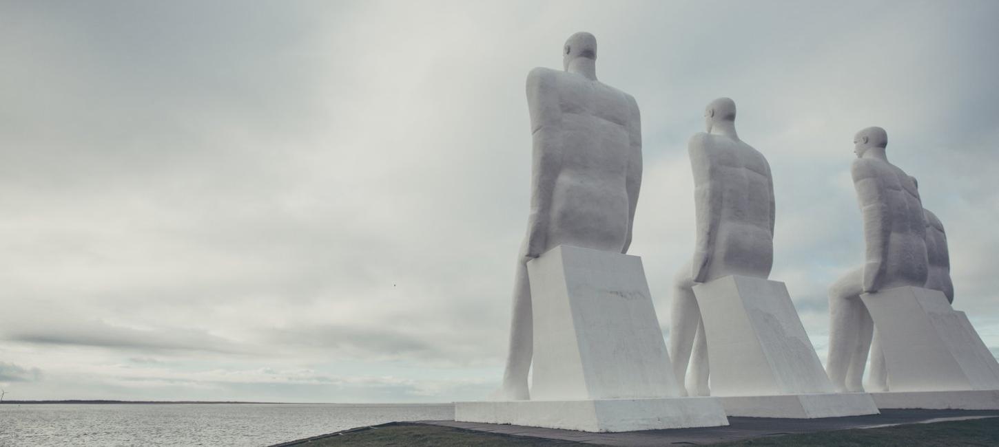
[[[564,244],[621,252],[629,225],[629,126],[637,109],[621,92],[575,73],[534,69],[527,86],[533,150],[542,159],[535,175],[549,181],[533,191],[550,195],[550,207],[537,210],[546,214],[537,217],[545,234],[539,251]]]

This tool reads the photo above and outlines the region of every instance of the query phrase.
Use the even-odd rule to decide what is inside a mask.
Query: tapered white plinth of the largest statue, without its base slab
[[[640,257],[559,245],[527,277],[531,400],[678,395]]]

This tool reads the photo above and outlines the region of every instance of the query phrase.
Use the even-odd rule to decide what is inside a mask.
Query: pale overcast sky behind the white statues
[[[631,252],[668,334],[686,141],[727,96],[770,162],[771,278],[822,360],[863,258],[868,126],[999,352],[999,2],[0,1],[8,399],[450,401],[500,381],[524,78],[573,32],[641,109]]]

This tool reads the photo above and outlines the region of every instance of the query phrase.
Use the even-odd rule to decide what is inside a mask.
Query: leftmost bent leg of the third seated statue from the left
[[[854,269],[829,286],[829,353],[825,370],[837,392],[846,391],[850,359],[856,350],[863,270]]]

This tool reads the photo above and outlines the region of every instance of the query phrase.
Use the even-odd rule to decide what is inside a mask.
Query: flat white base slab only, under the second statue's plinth
[[[718,397],[729,416],[814,419],[878,414],[867,393]]]

